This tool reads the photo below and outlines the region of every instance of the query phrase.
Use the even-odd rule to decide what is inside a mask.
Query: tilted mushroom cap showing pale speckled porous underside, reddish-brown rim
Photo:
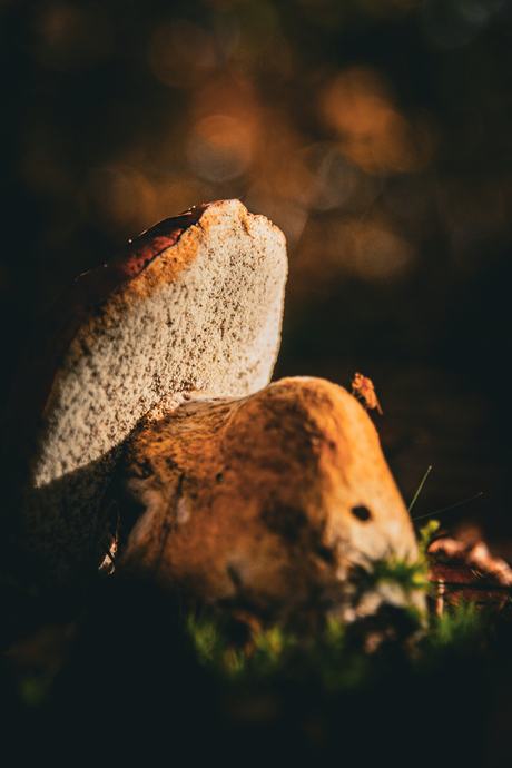
[[[119,447],[158,403],[268,383],[286,272],[283,234],[227,200],[160,223],[78,278],[42,324],[6,412],[9,578],[42,591],[87,581]]]

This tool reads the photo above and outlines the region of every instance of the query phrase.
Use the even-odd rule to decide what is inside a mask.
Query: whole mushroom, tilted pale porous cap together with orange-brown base
[[[227,200],[76,280],[6,411],[4,578],[61,593],[116,570],[287,616],[417,555],[362,405],[317,378],[268,385],[285,279],[283,234]]]

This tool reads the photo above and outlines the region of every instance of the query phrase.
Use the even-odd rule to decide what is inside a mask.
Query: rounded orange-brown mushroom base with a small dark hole
[[[324,380],[285,378],[248,397],[197,397],[150,414],[130,441],[120,486],[139,518],[119,571],[224,607],[352,620],[357,569],[417,558],[372,421]],[[384,595],[372,600],[368,611]]]

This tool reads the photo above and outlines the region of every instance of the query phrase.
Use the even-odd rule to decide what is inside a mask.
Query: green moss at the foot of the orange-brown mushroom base
[[[422,530],[422,554],[416,563],[377,563],[358,580],[358,595],[383,583],[395,584],[406,593],[426,591],[424,551],[436,529],[436,521],[431,521]],[[194,613],[187,618],[186,634],[199,663],[224,685],[268,687],[294,680],[328,693],[374,685],[383,676],[393,675],[397,666],[414,675],[441,668],[447,657],[481,654],[495,618],[495,612],[479,610],[473,603],[449,607],[442,617],[425,617],[414,605],[390,610],[384,605],[377,618],[354,624],[331,618],[315,637],[307,639],[272,627],[252,631],[249,641],[237,647],[230,643],[219,618]],[[368,651],[372,633],[377,642],[370,643]]]

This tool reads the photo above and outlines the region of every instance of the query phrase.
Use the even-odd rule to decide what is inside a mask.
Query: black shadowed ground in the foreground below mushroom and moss
[[[485,660],[479,639],[416,667],[391,648],[371,660],[364,685],[336,692],[299,669],[272,686],[227,685],[198,666],[179,611],[154,589],[111,582],[72,622],[53,614],[53,654],[59,631],[66,637],[51,693],[36,706],[28,688],[45,688],[41,662],[47,672],[56,663],[45,649],[48,624],[30,652],[26,644],[3,662],[2,749],[12,745],[18,765],[50,756],[86,765],[98,755],[130,764],[508,765],[508,622]]]

